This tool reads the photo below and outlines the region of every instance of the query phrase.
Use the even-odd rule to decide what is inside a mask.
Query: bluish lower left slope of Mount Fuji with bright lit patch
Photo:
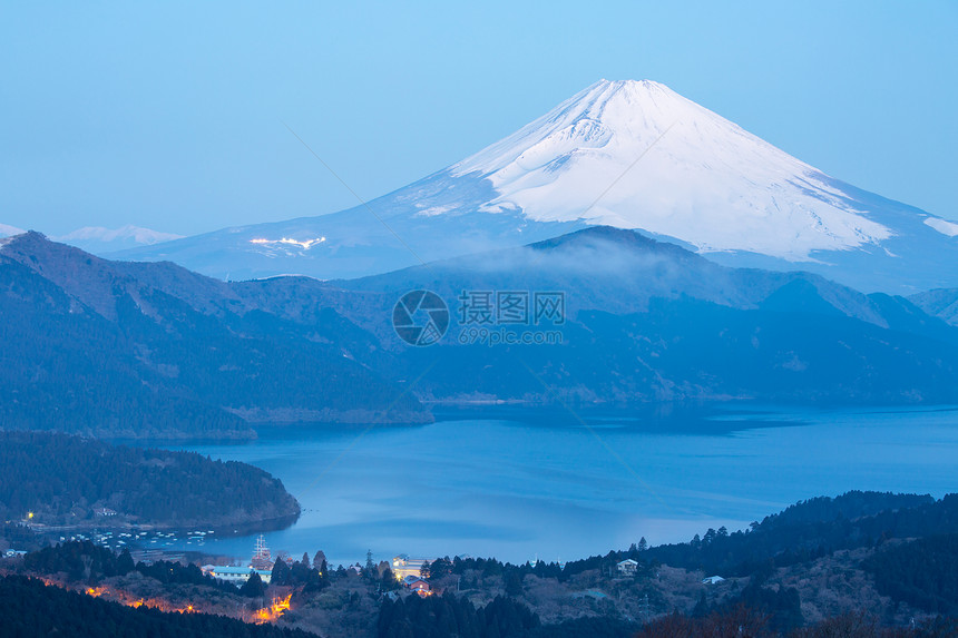
[[[356,206],[317,217],[225,228],[105,256],[170,261],[232,281],[290,274],[320,279],[352,278],[497,247],[520,246],[586,226],[531,222],[517,213],[465,214],[475,213],[491,195],[483,180],[451,179],[440,173],[369,202],[388,228],[365,206]],[[450,200],[456,202],[453,213],[421,214],[423,208],[453,206]]]

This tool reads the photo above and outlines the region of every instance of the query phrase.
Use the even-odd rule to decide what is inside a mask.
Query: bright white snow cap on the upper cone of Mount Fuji
[[[815,168],[651,80],[600,80],[452,166],[483,209],[607,224],[790,261],[892,235]]]

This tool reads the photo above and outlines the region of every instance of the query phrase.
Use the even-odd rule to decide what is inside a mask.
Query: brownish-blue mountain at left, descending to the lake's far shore
[[[355,361],[374,343],[335,311],[293,323],[222,282],[139,266],[3,241],[0,426],[235,439],[255,435],[248,421],[431,419]]]

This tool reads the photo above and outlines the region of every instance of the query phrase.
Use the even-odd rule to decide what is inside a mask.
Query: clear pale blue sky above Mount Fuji
[[[599,78],[664,82],[958,219],[956,33],[954,1],[2,0],[0,223],[194,234],[331,213],[353,196],[283,122],[373,198]]]

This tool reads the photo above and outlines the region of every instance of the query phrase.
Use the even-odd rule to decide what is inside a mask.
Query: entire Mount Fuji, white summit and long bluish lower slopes
[[[595,225],[866,292],[958,286],[958,224],[834,179],[648,80],[598,81],[368,205],[110,256],[219,278],[349,278]]]

